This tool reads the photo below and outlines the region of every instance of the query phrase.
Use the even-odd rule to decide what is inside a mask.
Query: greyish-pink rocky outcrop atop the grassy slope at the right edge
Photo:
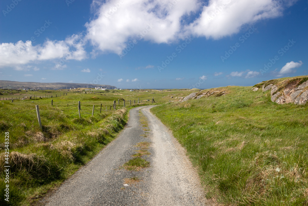
[[[300,80],[298,80],[299,82]],[[253,87],[253,91],[257,87]],[[278,91],[279,89],[279,91]],[[271,100],[272,102],[276,102],[278,104],[285,103],[294,103],[304,105],[308,101],[308,81],[297,85],[296,82],[286,84],[285,88],[278,88],[276,84],[270,84],[265,86],[265,83],[262,86],[262,91],[266,92],[270,90]]]

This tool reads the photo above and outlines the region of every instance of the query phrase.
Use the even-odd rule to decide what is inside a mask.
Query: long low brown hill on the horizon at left
[[[8,89],[70,89],[71,87],[74,88],[95,88],[95,87],[103,87],[106,89],[115,89],[115,86],[111,85],[104,85],[104,84],[79,84],[79,83],[40,83],[40,82],[14,82],[14,81],[6,81],[0,80],[0,88],[8,88]]]

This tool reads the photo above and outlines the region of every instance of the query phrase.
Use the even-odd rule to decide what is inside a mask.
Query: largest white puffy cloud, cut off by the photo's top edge
[[[92,4],[95,18],[85,26],[87,38],[95,49],[120,54],[133,39],[160,44],[190,35],[213,39],[230,36],[239,32],[243,25],[281,16],[283,10],[294,2],[210,0],[202,4],[198,0],[122,3],[97,0]]]

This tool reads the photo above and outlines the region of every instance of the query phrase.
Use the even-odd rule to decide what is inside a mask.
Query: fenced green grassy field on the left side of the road
[[[76,93],[77,90],[72,93],[64,90],[0,92],[3,94],[4,91],[17,96],[32,95],[32,99],[18,98],[13,103],[11,100],[0,101],[1,205],[35,204],[40,197],[59,186],[116,137],[127,121],[130,108],[149,104],[152,97],[156,103],[165,103],[172,100],[171,96],[182,97],[190,93],[189,90],[96,90],[90,94],[89,91],[85,94],[81,90],[79,93]],[[154,94],[151,94],[153,92]],[[60,93],[60,97],[55,97],[55,94]],[[43,98],[45,94],[53,95],[53,105],[50,98]],[[33,99],[34,95],[37,99]],[[140,102],[142,100],[142,104],[137,104],[138,98]],[[118,99],[118,110],[110,111],[113,100],[118,103]],[[123,100],[126,100],[126,108],[123,108]],[[136,104],[129,107],[129,100],[132,104],[135,100]],[[78,101],[81,101],[81,119],[77,109]],[[39,105],[42,131],[39,128],[35,105]],[[7,141],[5,132],[9,132],[8,157],[4,151]],[[9,158],[9,164],[5,163],[6,158]],[[5,183],[4,179],[5,165],[10,165],[9,183]],[[3,198],[6,184],[9,184],[9,202]]]

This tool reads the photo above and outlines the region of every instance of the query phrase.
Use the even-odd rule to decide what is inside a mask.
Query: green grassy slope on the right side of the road
[[[198,168],[207,198],[223,205],[308,204],[308,105],[271,102],[270,91],[166,103],[152,112]]]

